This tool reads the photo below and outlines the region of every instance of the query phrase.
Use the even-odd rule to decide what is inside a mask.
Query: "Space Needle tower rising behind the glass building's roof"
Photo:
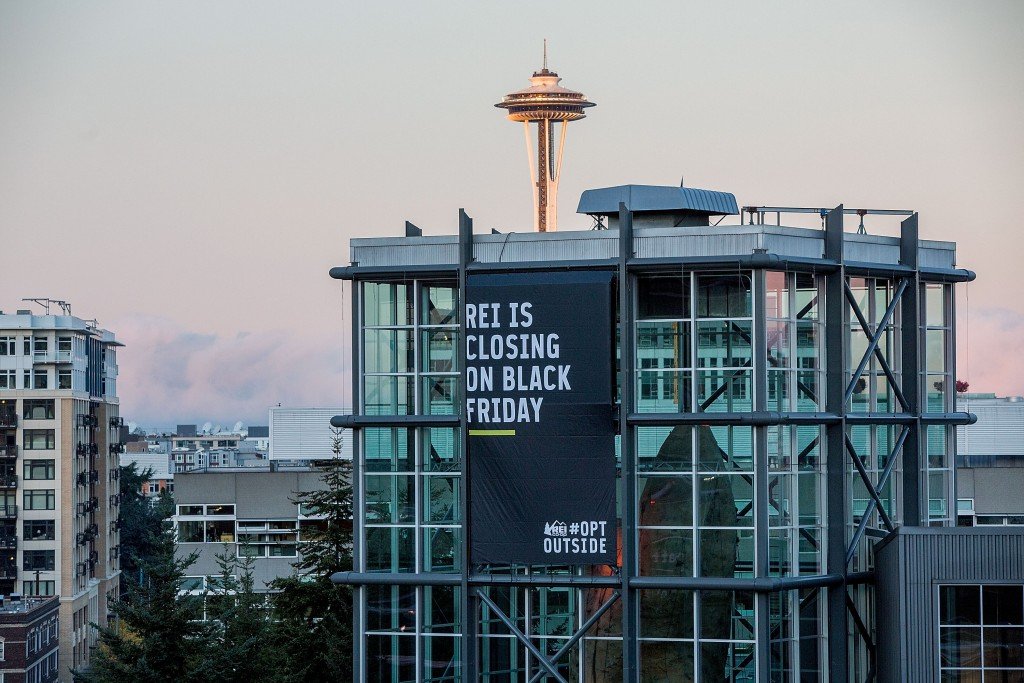
[[[558,180],[561,176],[562,152],[565,150],[565,129],[569,121],[587,115],[584,110],[594,106],[582,92],[558,85],[562,79],[548,71],[548,41],[544,41],[544,68],[534,72],[530,86],[505,95],[495,104],[508,112],[510,121],[521,121],[526,134],[526,155],[534,180],[534,227],[540,232],[558,229]],[[555,127],[561,121],[558,133],[558,152],[555,152]],[[537,124],[537,166],[534,165],[532,141],[529,124]]]

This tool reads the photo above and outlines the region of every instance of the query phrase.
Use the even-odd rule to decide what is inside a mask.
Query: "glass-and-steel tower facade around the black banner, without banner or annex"
[[[677,188],[678,189],[678,188]],[[731,196],[730,196],[731,197]],[[353,240],[357,678],[838,681],[876,672],[873,544],[954,523],[954,247],[687,225]],[[665,215],[663,215],[665,214]],[[663,226],[659,218],[675,220]],[[707,215],[705,214],[705,219]],[[707,220],[705,220],[707,222]],[[614,565],[469,561],[468,273],[615,275]]]

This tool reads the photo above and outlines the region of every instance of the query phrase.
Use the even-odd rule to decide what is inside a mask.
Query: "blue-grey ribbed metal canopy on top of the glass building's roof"
[[[587,189],[580,197],[577,213],[618,215],[618,204],[634,213],[687,211],[723,216],[739,213],[732,193],[672,185],[617,185]]]

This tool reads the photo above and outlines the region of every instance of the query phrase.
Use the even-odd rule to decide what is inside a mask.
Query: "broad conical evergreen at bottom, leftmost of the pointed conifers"
[[[185,571],[197,554],[177,558],[170,524],[139,559],[141,583],[112,605],[116,620],[99,629],[99,645],[88,671],[73,672],[88,683],[205,681],[211,647],[210,627],[202,621],[203,598],[180,595]]]

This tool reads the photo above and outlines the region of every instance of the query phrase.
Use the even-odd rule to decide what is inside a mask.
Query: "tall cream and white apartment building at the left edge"
[[[0,311],[0,594],[60,597],[61,680],[118,596],[119,346],[94,321]]]

